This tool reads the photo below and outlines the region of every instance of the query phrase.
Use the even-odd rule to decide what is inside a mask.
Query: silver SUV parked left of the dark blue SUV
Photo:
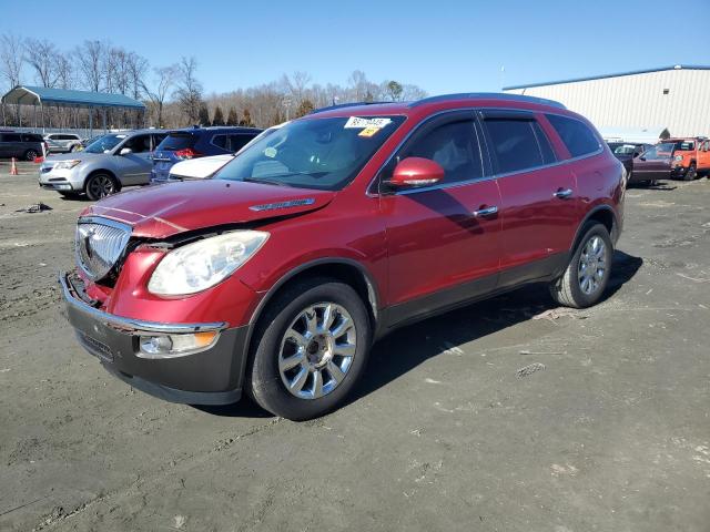
[[[51,155],[40,166],[42,188],[63,196],[85,194],[97,201],[129,185],[146,185],[155,146],[168,135],[161,130],[139,130],[101,136],[85,150]]]

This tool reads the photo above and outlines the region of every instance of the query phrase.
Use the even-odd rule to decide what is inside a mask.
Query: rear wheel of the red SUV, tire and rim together
[[[581,233],[582,237],[565,273],[549,286],[552,299],[565,307],[586,308],[597,304],[611,274],[613,245],[607,228],[597,222],[589,222]],[[600,248],[599,245],[604,246]],[[585,264],[586,270],[594,268],[592,275],[584,273]]]

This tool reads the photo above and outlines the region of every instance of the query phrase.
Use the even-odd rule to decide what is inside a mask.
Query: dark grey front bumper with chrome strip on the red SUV
[[[115,316],[97,308],[79,279],[60,273],[59,283],[79,342],[114,376],[172,402],[229,405],[240,399],[248,326],[165,324]],[[161,356],[143,347],[146,338],[209,332],[213,341],[184,354]]]

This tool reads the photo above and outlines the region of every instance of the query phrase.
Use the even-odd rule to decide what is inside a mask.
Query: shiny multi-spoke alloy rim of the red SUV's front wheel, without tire
[[[347,375],[356,344],[355,321],[344,307],[326,301],[304,308],[281,341],[282,382],[301,399],[331,393]]]

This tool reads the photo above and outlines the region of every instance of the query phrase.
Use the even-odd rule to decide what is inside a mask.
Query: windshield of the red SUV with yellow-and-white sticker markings
[[[291,122],[262,136],[214,178],[337,191],[355,178],[404,116]]]

